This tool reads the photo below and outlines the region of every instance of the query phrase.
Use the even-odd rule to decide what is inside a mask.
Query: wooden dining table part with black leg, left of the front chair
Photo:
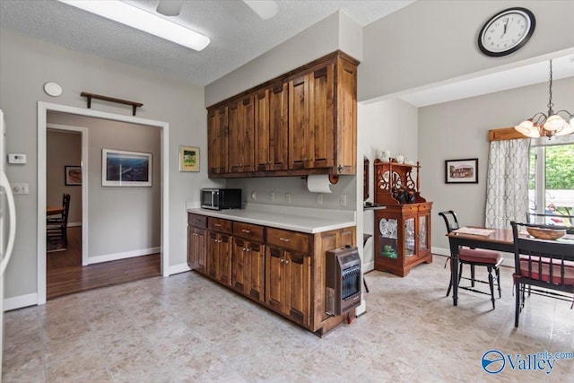
[[[458,250],[461,246],[514,253],[514,238],[510,229],[463,227],[448,233],[448,243],[451,255],[452,300],[455,306],[458,304]]]

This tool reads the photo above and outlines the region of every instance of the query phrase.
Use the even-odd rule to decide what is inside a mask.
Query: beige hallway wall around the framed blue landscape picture
[[[48,123],[87,128],[89,262],[152,254],[161,244],[161,129],[60,112]],[[102,187],[102,149],[151,153],[152,187]]]

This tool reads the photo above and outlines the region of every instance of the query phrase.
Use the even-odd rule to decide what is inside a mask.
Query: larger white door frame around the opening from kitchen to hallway
[[[155,126],[161,129],[161,275],[170,275],[170,123],[133,116],[38,102],[38,304],[46,303],[46,130],[48,110],[91,118]]]

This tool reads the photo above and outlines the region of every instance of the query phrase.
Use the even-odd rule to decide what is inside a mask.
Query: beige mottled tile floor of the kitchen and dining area
[[[292,325],[196,273],[82,292],[4,315],[4,382],[574,382],[505,367],[483,353],[574,351],[570,303],[532,296],[514,327],[511,269],[503,297],[445,297],[444,257],[406,278],[371,272],[368,312],[325,337]],[[508,363],[507,363],[508,364]]]

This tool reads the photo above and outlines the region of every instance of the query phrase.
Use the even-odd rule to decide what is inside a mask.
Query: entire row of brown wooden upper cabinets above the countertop
[[[211,165],[222,150],[210,135],[209,176],[355,174],[358,64],[337,51],[211,107],[210,131],[228,110],[229,167]]]

